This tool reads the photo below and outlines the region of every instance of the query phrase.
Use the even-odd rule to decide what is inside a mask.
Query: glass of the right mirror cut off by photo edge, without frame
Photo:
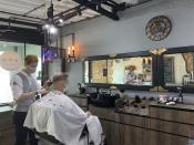
[[[164,55],[164,82],[166,86],[194,85],[194,53]]]

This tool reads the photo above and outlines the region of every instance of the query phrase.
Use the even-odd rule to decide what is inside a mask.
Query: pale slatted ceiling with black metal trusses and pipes
[[[0,24],[40,29],[44,21],[52,18],[53,22],[63,27],[98,15],[119,20],[118,12],[126,8],[143,4],[151,0],[0,0]],[[63,22],[60,19],[63,19]]]

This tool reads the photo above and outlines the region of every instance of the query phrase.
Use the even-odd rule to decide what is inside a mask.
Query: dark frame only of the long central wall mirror
[[[96,60],[111,60],[111,59],[123,59],[123,58],[135,58],[135,56],[151,56],[152,58],[152,85],[130,85],[130,84],[109,84],[109,83],[91,83],[91,61]],[[135,90],[135,91],[150,91],[150,89],[153,89],[157,85],[156,81],[156,55],[152,54],[149,51],[139,51],[139,52],[130,52],[130,53],[119,53],[115,56],[110,55],[95,55],[95,56],[89,56],[84,61],[89,61],[89,83],[84,82],[84,72],[83,72],[83,82],[89,87],[101,87],[101,89],[110,89],[115,87],[119,90]],[[83,71],[84,71],[84,61],[83,61]]]

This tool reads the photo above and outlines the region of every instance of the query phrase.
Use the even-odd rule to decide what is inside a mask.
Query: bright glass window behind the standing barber
[[[27,54],[35,54],[39,56],[39,64],[34,76],[37,77],[38,82],[41,84],[41,46],[34,44],[24,44],[24,43],[16,43],[16,42],[6,42],[0,41],[0,55],[4,51],[16,51],[19,53],[20,58],[24,60]],[[24,63],[24,62],[23,62]],[[10,79],[11,76],[17,73],[6,71],[0,66],[0,103],[8,103],[13,101],[11,87],[10,87]]]

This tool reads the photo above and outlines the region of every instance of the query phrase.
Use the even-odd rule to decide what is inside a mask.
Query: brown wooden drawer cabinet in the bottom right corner
[[[194,137],[192,105],[151,105],[150,117],[150,145],[188,145]]]

